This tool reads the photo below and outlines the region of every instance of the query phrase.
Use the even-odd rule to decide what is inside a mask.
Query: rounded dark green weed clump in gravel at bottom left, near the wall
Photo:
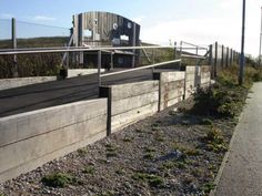
[[[50,174],[44,176],[41,182],[46,185],[46,186],[51,186],[51,187],[60,187],[63,188],[69,184],[72,184],[74,180],[74,178],[72,176],[70,176],[69,174],[64,174],[64,173],[54,173],[54,174]]]

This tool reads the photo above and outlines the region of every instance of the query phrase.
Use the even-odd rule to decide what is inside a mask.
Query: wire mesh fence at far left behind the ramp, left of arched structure
[[[68,28],[0,19],[0,50],[64,47],[69,38]],[[0,79],[56,75],[61,59],[58,53],[0,56]]]

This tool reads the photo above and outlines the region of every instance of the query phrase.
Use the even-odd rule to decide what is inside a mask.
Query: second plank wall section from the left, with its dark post
[[[103,86],[100,95],[109,99],[110,134],[158,112],[159,81]]]

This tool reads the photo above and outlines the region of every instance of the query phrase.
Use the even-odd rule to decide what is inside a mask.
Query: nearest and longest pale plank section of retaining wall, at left
[[[107,136],[107,99],[0,118],[0,182]]]

